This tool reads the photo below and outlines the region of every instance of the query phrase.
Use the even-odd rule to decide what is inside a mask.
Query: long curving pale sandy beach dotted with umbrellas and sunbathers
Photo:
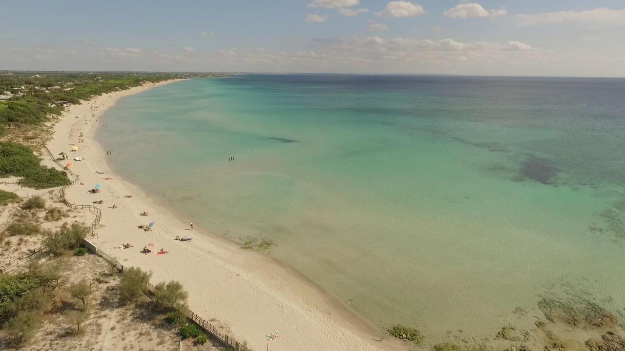
[[[171,82],[175,81],[134,87],[70,106],[54,126],[54,137],[47,144],[50,151],[83,158],[69,161],[81,176],[81,184],[66,191],[68,200],[76,204],[104,201],[98,205],[103,220],[96,230],[98,237],[92,239],[94,244],[126,267],[151,270],[153,282],[178,280],[189,292],[192,310],[237,340],[246,340],[254,350],[264,350],[265,335],[274,331],[279,332],[279,339],[271,342],[271,350],[402,349],[394,340],[374,340],[379,332],[287,265],[269,255],[242,250],[211,234],[210,229],[196,225],[191,230],[193,219],[111,172],[108,158],[123,150],[113,149],[108,156],[94,140],[98,126],[106,127],[101,118],[104,112],[118,99]],[[79,137],[81,133],[83,137]],[[78,146],[79,151],[71,152],[71,146]],[[103,184],[101,193],[89,194],[96,184]],[[113,205],[116,208],[111,208]],[[149,215],[141,216],[144,211]],[[156,222],[154,230],[138,229],[151,221]],[[174,240],[176,236],[192,240],[180,242]],[[134,247],[122,249],[126,242]],[[153,252],[142,254],[149,243],[156,243]],[[156,255],[161,248],[168,254]]]

